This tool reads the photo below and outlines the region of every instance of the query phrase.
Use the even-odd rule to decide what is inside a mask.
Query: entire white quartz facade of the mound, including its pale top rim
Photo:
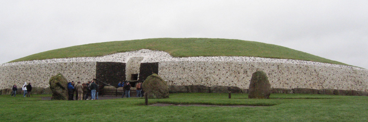
[[[236,56],[175,58],[169,53],[148,49],[100,57],[2,64],[0,89],[10,88],[14,83],[21,85],[24,82],[32,82],[32,86],[46,88],[50,77],[58,73],[63,74],[68,81],[89,81],[100,77],[96,74],[96,70],[99,70],[96,69],[96,62],[126,64],[125,78],[121,79],[128,80],[131,74],[139,73],[138,80],[144,81],[142,78],[153,72],[158,73],[168,85],[222,85],[248,89],[252,73],[263,71],[269,78],[271,88],[329,88],[368,92],[368,70],[358,67]]]

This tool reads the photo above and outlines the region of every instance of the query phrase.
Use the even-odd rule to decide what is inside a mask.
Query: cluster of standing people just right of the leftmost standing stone
[[[99,90],[100,86],[98,85],[98,82],[96,82],[96,79],[84,84],[77,82],[77,85],[74,84],[74,81],[68,82],[68,100],[74,100],[74,92],[76,92],[75,100],[98,100]],[[90,93],[91,99],[88,99]]]

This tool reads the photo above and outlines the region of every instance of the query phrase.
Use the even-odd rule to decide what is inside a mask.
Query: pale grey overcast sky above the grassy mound
[[[0,64],[145,38],[275,44],[368,69],[367,0],[1,0]]]

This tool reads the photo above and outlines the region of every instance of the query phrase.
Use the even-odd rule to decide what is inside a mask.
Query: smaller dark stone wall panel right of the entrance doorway
[[[146,78],[153,73],[158,74],[159,73],[159,63],[141,63],[141,66],[139,67],[139,78],[138,82],[143,82],[146,80]]]

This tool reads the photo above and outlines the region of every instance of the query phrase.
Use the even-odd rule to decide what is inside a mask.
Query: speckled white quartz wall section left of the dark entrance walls
[[[52,76],[61,73],[68,82],[87,82],[96,76],[96,62],[37,63],[0,66],[0,89],[31,82],[34,87],[49,87]]]

